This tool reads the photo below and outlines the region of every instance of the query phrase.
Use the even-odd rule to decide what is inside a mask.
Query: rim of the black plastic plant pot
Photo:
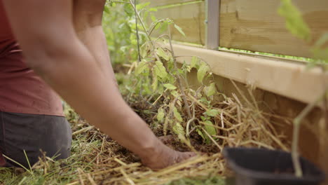
[[[282,150],[273,150],[273,149],[261,149],[261,148],[247,148],[247,147],[225,147],[223,151],[224,158],[228,158],[228,150],[231,149],[238,149],[238,150],[247,150],[247,151],[274,151],[274,152],[280,152],[280,153],[287,153],[288,155],[291,155],[287,151]],[[306,161],[307,163],[310,163],[305,158],[300,157],[301,160]],[[228,166],[231,167],[233,171],[235,171],[236,174],[242,174],[247,177],[251,177],[253,179],[272,179],[272,180],[286,180],[286,181],[300,181],[300,182],[317,182],[317,181],[323,181],[324,180],[324,173],[321,172],[317,167],[317,170],[320,171],[319,175],[306,175],[301,178],[295,177],[294,174],[275,174],[271,172],[259,172],[255,170],[250,170],[245,167],[241,167],[240,165],[237,165],[235,161],[232,160],[226,160],[228,163]],[[312,164],[312,163],[311,163]]]

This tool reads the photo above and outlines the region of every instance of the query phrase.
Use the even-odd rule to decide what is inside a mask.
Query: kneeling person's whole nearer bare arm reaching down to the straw
[[[124,102],[115,82],[78,39],[72,0],[3,1],[27,64],[90,123],[152,168],[191,156],[168,149]]]

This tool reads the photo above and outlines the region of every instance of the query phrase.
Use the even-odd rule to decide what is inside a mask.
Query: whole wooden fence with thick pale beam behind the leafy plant
[[[328,31],[328,1],[293,3],[301,10],[313,40]],[[306,62],[259,54],[312,57],[313,43],[297,39],[285,28],[284,18],[277,13],[280,1],[157,0],[151,1],[150,6],[158,9],[156,18],[170,18],[184,30],[186,36],[172,31],[175,54],[203,58],[216,75],[219,90],[226,95],[235,91],[232,79],[242,90],[246,91],[246,86],[256,87],[257,101],[265,102],[275,114],[295,117],[328,85],[328,75],[319,68],[306,69]],[[190,57],[179,59],[190,62]],[[304,121],[300,150],[302,156],[328,174],[328,128],[326,125],[325,130],[320,129],[320,115],[319,109],[313,110]],[[292,138],[292,125],[286,123],[285,130]]]

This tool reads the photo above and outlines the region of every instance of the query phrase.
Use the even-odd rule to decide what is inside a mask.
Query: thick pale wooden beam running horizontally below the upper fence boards
[[[193,55],[203,58],[213,74],[254,85],[278,95],[310,103],[324,92],[328,73],[322,78],[321,70],[306,69],[306,64],[268,60],[258,57],[174,45],[175,55]],[[178,57],[179,62],[190,62],[191,57]]]

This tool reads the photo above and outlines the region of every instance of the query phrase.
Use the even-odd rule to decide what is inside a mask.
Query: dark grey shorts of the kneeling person
[[[0,111],[0,151],[28,167],[39,160],[41,151],[55,159],[69,157],[71,128],[66,118],[36,114],[18,114]],[[41,150],[41,151],[40,151]],[[6,160],[6,166],[18,166]]]

